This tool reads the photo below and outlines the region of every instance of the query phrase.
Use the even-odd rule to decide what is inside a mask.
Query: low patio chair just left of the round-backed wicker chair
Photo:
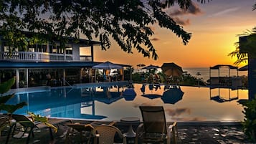
[[[116,122],[110,122],[108,125],[114,125]],[[70,136],[74,134],[74,130],[80,133],[80,143],[83,143],[84,135],[87,137],[87,143],[90,143],[90,138],[93,136],[93,130],[95,127],[99,125],[103,125],[101,122],[94,121],[93,123],[89,124],[82,124],[82,123],[66,123],[65,125],[69,126],[71,129],[67,130],[66,140],[65,143],[71,143]]]

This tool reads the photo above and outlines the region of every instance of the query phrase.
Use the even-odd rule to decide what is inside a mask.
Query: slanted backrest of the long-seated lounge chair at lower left
[[[11,115],[11,117],[16,120],[17,123],[21,124],[24,128],[27,127],[37,127],[31,120],[29,120],[29,118],[25,115]]]

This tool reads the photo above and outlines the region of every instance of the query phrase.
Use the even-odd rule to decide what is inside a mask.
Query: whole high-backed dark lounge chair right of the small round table
[[[162,106],[140,106],[143,123],[136,131],[136,144],[140,143],[176,143],[176,122],[166,124]]]

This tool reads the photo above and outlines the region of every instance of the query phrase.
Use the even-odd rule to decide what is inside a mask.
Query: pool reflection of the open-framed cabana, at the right
[[[210,90],[210,100],[214,100],[216,102],[230,102],[232,100],[238,100],[239,92],[238,90],[231,90],[228,88],[209,88]],[[217,91],[217,95],[212,96],[212,90]],[[225,93],[224,93],[225,92]],[[222,95],[224,93],[224,95]],[[232,95],[232,93],[235,93]]]

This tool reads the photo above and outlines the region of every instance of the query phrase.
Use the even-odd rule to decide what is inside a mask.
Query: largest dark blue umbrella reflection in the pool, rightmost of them
[[[182,92],[181,89],[172,88],[163,92],[163,96],[161,97],[161,99],[164,103],[175,104],[182,99],[183,95],[184,92]]]

